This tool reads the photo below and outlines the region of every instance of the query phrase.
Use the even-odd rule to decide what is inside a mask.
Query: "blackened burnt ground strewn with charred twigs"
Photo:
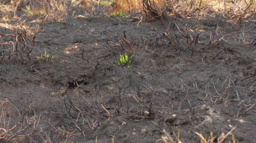
[[[138,21],[127,20],[77,16],[67,22],[45,21],[45,32],[29,45],[30,60],[26,54],[24,61],[16,61],[15,55],[3,58],[0,100],[8,114],[1,126],[7,127],[3,119],[9,129],[22,124],[9,133],[0,131],[0,137],[21,142],[94,143],[97,138],[99,143],[160,143],[163,136],[200,142],[198,132],[207,140],[210,133],[216,138],[224,133],[224,142],[233,141],[232,135],[239,143],[256,142],[253,22],[168,17],[164,24],[143,22],[138,27]],[[186,32],[197,42],[189,44],[191,39],[185,38],[181,27],[186,24],[194,24]],[[0,29],[12,33],[4,20]],[[240,37],[241,30],[248,29],[244,37],[254,40],[251,44]],[[38,62],[32,56],[40,57],[39,50],[53,53],[55,60]],[[130,69],[113,65],[120,53],[133,52]]]

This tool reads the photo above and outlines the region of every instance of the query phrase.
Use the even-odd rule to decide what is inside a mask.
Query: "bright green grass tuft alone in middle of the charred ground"
[[[129,56],[127,54],[119,54],[119,58],[117,59],[116,63],[119,66],[124,66],[124,68],[129,69],[134,54],[135,54],[135,52],[133,52],[133,54],[131,56]],[[114,64],[114,66],[117,66],[117,65]]]

